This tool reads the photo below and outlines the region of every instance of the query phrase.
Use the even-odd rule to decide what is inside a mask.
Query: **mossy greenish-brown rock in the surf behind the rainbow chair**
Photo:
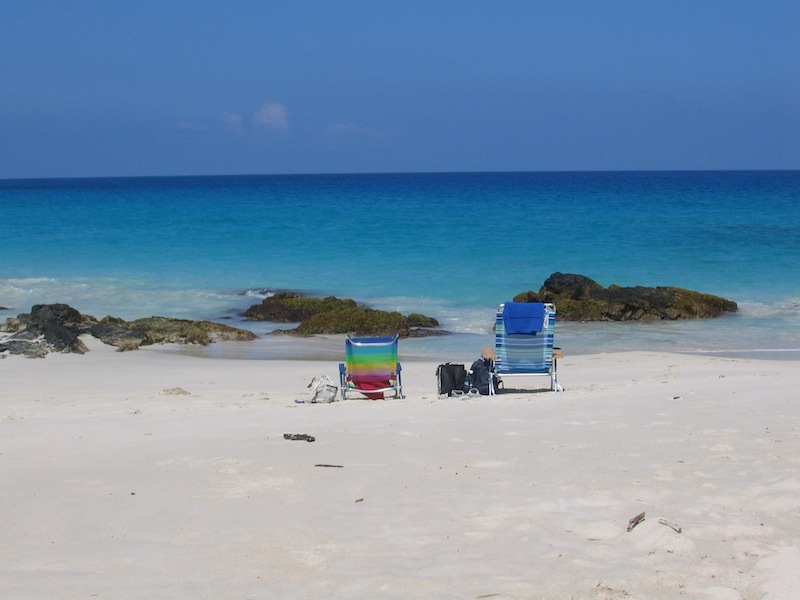
[[[439,322],[425,315],[404,316],[396,311],[362,306],[351,299],[313,298],[294,292],[278,292],[248,308],[244,315],[253,321],[299,323],[295,329],[273,332],[284,335],[393,335],[396,332],[401,337],[420,337],[443,333],[432,329],[438,327]]]

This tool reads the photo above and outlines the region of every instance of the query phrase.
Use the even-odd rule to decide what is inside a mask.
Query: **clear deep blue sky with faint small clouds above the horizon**
[[[0,179],[800,169],[797,0],[0,8]]]

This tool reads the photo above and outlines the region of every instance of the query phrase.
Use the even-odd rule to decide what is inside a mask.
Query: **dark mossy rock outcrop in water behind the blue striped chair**
[[[553,273],[538,292],[515,302],[552,302],[559,320],[658,321],[705,319],[735,312],[735,302],[678,287],[603,287],[583,275]]]

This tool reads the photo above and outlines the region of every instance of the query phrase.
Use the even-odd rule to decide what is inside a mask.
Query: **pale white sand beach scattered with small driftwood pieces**
[[[4,598],[800,597],[797,362],[567,354],[479,399],[406,362],[311,405],[335,363],[86,343],[0,360]]]

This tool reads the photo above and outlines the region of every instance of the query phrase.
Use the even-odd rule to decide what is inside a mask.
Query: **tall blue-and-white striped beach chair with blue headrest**
[[[549,375],[550,389],[562,392],[553,353],[556,307],[543,302],[505,302],[495,321],[494,374]],[[493,392],[490,386],[490,392]]]

